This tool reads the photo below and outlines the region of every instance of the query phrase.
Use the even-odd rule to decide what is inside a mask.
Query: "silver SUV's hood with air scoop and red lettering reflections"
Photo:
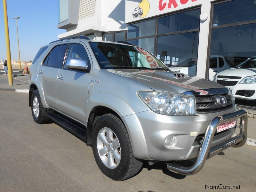
[[[220,84],[196,76],[185,75],[185,78],[177,78],[171,71],[137,69],[107,69],[107,71],[137,81],[157,91],[183,93],[193,90],[225,88]]]

